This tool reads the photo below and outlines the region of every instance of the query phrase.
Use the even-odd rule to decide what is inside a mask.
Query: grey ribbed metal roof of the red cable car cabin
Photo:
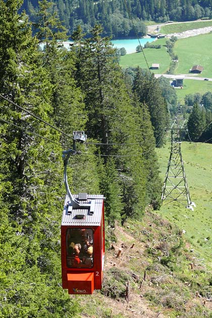
[[[103,195],[73,194],[82,205],[90,203],[85,208],[73,208],[69,196],[66,195],[62,217],[62,226],[99,226],[101,224]]]

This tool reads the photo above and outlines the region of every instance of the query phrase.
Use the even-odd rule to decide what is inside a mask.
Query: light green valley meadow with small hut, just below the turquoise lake
[[[170,56],[167,53],[165,44],[166,39],[158,39],[156,44],[161,44],[161,48],[144,48],[144,55],[147,60],[148,66],[151,67],[152,63],[160,64],[159,70],[151,70],[155,74],[163,74],[169,69]],[[147,68],[147,64],[144,58],[143,52],[127,54],[121,57],[120,66],[124,69],[128,67],[140,67],[142,69]]]

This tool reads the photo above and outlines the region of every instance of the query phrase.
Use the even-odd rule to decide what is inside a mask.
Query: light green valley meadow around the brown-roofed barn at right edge
[[[202,34],[180,39],[175,43],[174,52],[178,56],[178,67],[175,74],[189,74],[193,65],[203,66],[198,77],[212,77],[211,64],[212,34]]]

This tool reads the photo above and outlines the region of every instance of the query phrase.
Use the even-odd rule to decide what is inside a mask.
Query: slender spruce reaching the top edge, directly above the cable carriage
[[[73,130],[83,130],[86,122],[83,94],[73,78],[75,57],[63,47],[66,30],[56,13],[52,15],[54,4],[43,0],[39,2],[39,9],[36,36],[45,44],[41,61],[52,84],[54,121],[65,133],[72,134]],[[61,138],[63,142],[70,142],[64,136]]]

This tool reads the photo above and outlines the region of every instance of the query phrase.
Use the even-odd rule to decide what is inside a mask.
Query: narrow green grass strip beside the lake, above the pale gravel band
[[[160,32],[164,34],[179,33],[187,30],[205,28],[208,26],[212,26],[212,20],[186,23],[171,23],[163,25],[160,29]]]

